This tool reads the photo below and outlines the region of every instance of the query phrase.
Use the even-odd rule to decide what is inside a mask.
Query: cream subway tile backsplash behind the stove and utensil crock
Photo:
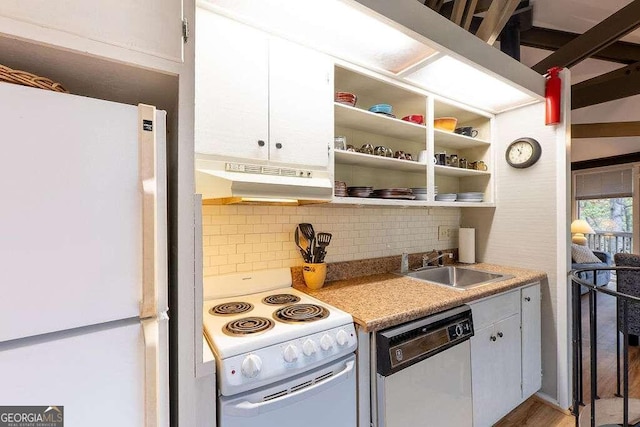
[[[351,261],[457,247],[438,240],[438,226],[460,225],[460,209],[334,206],[204,205],[204,275],[302,265],[295,227],[313,224],[333,234],[327,262]]]

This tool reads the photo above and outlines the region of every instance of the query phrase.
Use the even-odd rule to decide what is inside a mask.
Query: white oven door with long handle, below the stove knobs
[[[355,427],[353,354],[273,386],[219,398],[220,427]]]

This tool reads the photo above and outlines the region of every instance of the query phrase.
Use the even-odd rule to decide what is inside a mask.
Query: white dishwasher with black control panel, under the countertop
[[[376,333],[378,427],[473,425],[471,308]]]

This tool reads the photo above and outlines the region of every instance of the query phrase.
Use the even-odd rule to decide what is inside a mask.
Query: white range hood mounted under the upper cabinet
[[[209,204],[330,202],[333,182],[326,170],[260,165],[196,157],[196,192]]]

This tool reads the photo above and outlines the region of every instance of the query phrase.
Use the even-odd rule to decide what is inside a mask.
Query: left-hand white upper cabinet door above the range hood
[[[267,160],[268,37],[200,8],[196,21],[196,152]]]

